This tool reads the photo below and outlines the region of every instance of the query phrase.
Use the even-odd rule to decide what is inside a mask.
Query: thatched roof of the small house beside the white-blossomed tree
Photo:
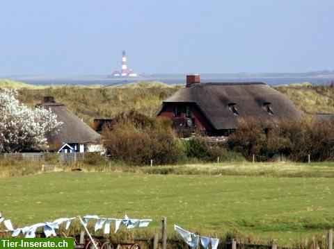
[[[93,144],[100,139],[100,134],[68,110],[63,103],[47,102],[36,105],[38,106],[51,110],[57,115],[57,121],[63,122],[56,134],[47,137],[50,143]]]

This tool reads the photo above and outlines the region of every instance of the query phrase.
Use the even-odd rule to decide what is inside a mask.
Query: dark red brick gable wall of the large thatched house
[[[180,118],[186,117],[186,104],[179,104],[181,107]],[[163,110],[158,115],[159,117],[166,117],[168,119],[174,118],[174,104],[164,104]],[[195,126],[200,130],[212,130],[212,126],[207,121],[202,112],[198,109],[197,105],[191,105],[191,117],[195,119]]]

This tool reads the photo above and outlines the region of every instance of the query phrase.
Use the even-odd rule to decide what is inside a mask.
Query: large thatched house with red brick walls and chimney
[[[228,135],[238,120],[248,117],[301,119],[288,98],[264,83],[205,83],[187,76],[186,87],[166,99],[157,116],[171,119],[175,127],[196,126],[209,135]]]

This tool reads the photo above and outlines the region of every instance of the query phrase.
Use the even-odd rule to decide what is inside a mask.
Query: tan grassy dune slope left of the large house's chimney
[[[96,117],[115,117],[129,110],[148,116],[157,111],[162,101],[180,86],[162,83],[136,83],[120,87],[46,87],[45,89],[20,89],[19,100],[33,107],[43,96],[54,96],[81,119],[92,123]]]

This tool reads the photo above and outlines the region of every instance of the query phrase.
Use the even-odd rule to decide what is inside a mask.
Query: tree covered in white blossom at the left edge
[[[0,88],[0,152],[46,150],[46,135],[61,124],[51,111],[28,108],[15,90]]]

